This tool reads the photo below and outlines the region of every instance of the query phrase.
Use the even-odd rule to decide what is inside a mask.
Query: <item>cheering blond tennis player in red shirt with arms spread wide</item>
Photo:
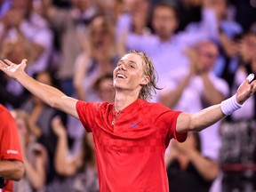
[[[25,72],[27,60],[0,61],[0,69],[52,108],[80,119],[95,143],[100,191],[169,191],[164,151],[170,140],[186,140],[241,108],[256,91],[254,75],[236,95],[195,114],[173,111],[147,100],[156,86],[152,61],[143,52],[127,52],[113,72],[114,103],[84,102],[37,82]],[[171,180],[172,182],[172,180]]]

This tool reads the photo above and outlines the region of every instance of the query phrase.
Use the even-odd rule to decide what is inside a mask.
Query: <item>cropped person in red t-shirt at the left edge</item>
[[[12,180],[20,180],[24,172],[16,123],[0,104],[0,192],[12,192]]]

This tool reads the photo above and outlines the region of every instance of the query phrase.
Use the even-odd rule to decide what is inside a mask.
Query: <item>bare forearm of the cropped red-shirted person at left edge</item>
[[[0,175],[6,180],[20,180],[25,172],[19,161],[0,161]]]

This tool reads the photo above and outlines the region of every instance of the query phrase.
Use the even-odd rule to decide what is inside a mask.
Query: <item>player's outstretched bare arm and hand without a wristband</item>
[[[4,71],[7,76],[16,79],[29,92],[36,95],[36,97],[43,100],[52,108],[58,108],[61,111],[68,113],[71,116],[79,118],[76,112],[76,99],[66,96],[58,89],[42,84],[36,81],[25,72],[27,60],[22,60],[20,64],[12,63],[10,60],[0,60],[0,69]]]

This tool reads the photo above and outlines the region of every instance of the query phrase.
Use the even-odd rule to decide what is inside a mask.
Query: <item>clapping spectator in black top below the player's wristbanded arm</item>
[[[212,181],[218,175],[219,165],[202,156],[197,132],[189,133],[184,143],[172,140],[171,148],[166,152],[168,156],[165,156],[165,164],[170,191],[187,192],[191,188],[198,192],[209,191]]]

